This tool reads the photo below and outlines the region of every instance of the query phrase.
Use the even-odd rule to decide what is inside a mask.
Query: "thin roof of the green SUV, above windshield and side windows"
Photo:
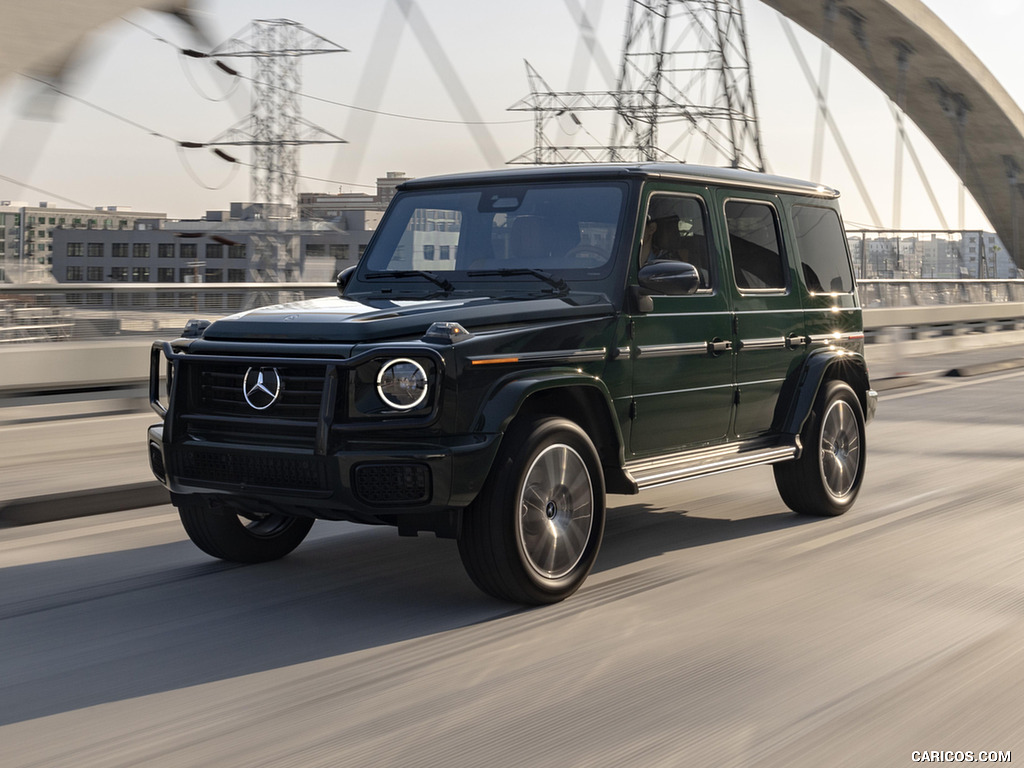
[[[571,181],[577,179],[642,177],[671,179],[698,184],[791,193],[835,199],[839,191],[811,181],[774,176],[738,168],[715,168],[688,163],[581,163],[578,165],[524,166],[494,171],[472,171],[410,179],[399,189],[424,189],[464,184],[522,183],[528,181]]]

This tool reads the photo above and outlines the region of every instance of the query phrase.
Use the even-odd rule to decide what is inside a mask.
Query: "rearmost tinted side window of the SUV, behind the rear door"
[[[839,215],[831,208],[794,206],[793,224],[804,283],[811,293],[850,293],[853,271]]]

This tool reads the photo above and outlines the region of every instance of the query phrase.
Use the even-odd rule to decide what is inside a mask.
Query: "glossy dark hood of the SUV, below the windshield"
[[[467,331],[609,314],[601,295],[530,299],[469,298],[434,301],[310,299],[250,309],[213,323],[211,341],[361,342],[418,339],[434,323],[460,323]]]

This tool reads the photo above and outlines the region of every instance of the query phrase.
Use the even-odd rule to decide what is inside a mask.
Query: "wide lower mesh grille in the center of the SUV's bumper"
[[[313,457],[264,456],[185,447],[177,452],[183,480],[288,490],[325,490],[324,466]]]

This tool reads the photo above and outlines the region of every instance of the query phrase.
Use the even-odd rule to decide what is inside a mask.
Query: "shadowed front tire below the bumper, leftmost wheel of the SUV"
[[[178,505],[178,516],[193,544],[212,557],[232,562],[278,560],[294,550],[313,526],[310,517],[282,514],[241,517],[211,509],[201,501]]]

